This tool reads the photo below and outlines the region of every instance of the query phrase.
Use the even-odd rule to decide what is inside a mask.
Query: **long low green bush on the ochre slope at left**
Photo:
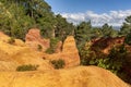
[[[16,67],[16,71],[19,72],[24,72],[24,71],[36,71],[38,67],[38,65],[32,65],[32,64],[28,64],[28,65],[21,65],[21,66],[17,66]]]

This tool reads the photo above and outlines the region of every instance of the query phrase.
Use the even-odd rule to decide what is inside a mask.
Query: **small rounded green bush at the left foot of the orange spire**
[[[63,69],[64,67],[64,65],[66,65],[66,62],[64,62],[64,60],[62,60],[62,59],[59,59],[59,60],[52,60],[52,61],[50,61],[50,63],[53,65],[53,67],[55,69]]]

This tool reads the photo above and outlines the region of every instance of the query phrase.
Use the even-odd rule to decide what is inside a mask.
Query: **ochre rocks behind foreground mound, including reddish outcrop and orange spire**
[[[40,38],[38,29],[31,29],[26,35],[26,44],[20,39],[14,39],[13,44],[9,44],[11,37],[0,33],[0,71],[15,71],[19,65],[33,64],[39,65],[38,70],[52,70],[50,60],[63,59],[66,67],[75,66],[80,64],[79,51],[75,46],[73,36],[69,36],[66,41],[59,41],[56,53],[47,54],[38,51],[37,45],[43,44],[43,47],[49,48],[47,44]],[[34,45],[35,44],[35,45]],[[62,47],[62,49],[61,49]],[[35,48],[33,50],[32,48]]]

